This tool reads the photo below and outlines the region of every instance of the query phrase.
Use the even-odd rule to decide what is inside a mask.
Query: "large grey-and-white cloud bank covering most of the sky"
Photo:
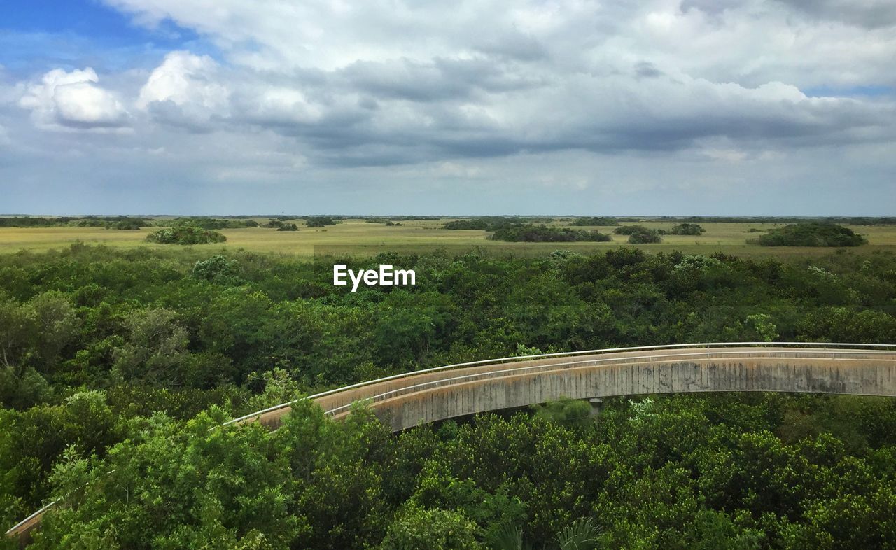
[[[151,73],[137,106],[155,121],[267,129],[326,162],[892,138],[892,100],[804,90],[896,85],[896,28],[789,0],[105,1],[219,47]]]

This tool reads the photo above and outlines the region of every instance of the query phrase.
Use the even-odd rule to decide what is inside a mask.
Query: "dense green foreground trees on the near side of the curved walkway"
[[[363,410],[335,424],[307,405],[274,434],[215,429],[217,408],[141,418],[107,460],[65,452],[52,480],[68,496],[35,546],[522,548],[510,527],[556,548],[581,518],[607,548],[884,548],[896,535],[893,400],[611,400],[597,423],[588,409],[397,437]]]

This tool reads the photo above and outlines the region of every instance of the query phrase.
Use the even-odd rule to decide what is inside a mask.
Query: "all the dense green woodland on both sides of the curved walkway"
[[[297,393],[537,350],[894,342],[892,254],[339,260],[413,268],[418,285],[353,294],[332,262],[189,249],[4,257],[0,520],[65,494],[39,547],[399,546],[417,531],[475,546],[517,527],[540,547],[581,518],[607,547],[896,536],[893,400],[615,400],[598,424],[567,403],[398,437],[303,408],[276,434],[209,429]]]

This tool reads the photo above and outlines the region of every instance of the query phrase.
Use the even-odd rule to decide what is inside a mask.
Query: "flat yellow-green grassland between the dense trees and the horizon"
[[[768,247],[749,244],[747,241],[759,236],[749,233],[750,228],[768,229],[773,224],[745,222],[702,223],[706,233],[702,236],[663,236],[659,245],[629,245],[627,236],[614,235],[609,243],[505,243],[487,240],[486,231],[442,229],[443,220],[402,221],[401,226],[387,227],[378,223],[366,223],[362,219],[347,219],[326,228],[306,228],[297,220],[299,231],[276,231],[271,228],[220,229],[228,237],[227,243],[214,245],[194,245],[197,251],[217,251],[220,249],[245,249],[253,252],[295,254],[312,256],[315,254],[379,254],[385,251],[421,252],[440,247],[481,247],[495,254],[517,254],[537,256],[550,254],[558,248],[582,253],[599,251],[625,245],[642,248],[650,252],[681,250],[689,254],[712,254],[723,252],[745,257],[785,257],[830,254],[831,248]],[[670,228],[675,222],[638,222],[649,228]],[[556,221],[558,227],[565,224]],[[850,248],[857,254],[868,254],[877,250],[896,252],[896,226],[849,226],[868,238],[869,244]],[[581,227],[580,227],[581,228]],[[91,245],[110,247],[172,248],[177,245],[155,245],[145,240],[147,234],[156,228],[142,228],[135,231],[104,228],[0,228],[0,254],[11,254],[20,250],[34,252],[65,248],[77,241]],[[612,227],[584,227],[611,233]]]

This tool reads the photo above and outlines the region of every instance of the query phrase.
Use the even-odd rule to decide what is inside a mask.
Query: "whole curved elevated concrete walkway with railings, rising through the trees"
[[[502,357],[396,374],[302,398],[340,419],[363,401],[401,431],[414,425],[562,397],[689,391],[786,391],[896,397],[896,345],[702,343]],[[225,425],[282,424],[281,403]],[[7,535],[27,541],[48,504]]]

